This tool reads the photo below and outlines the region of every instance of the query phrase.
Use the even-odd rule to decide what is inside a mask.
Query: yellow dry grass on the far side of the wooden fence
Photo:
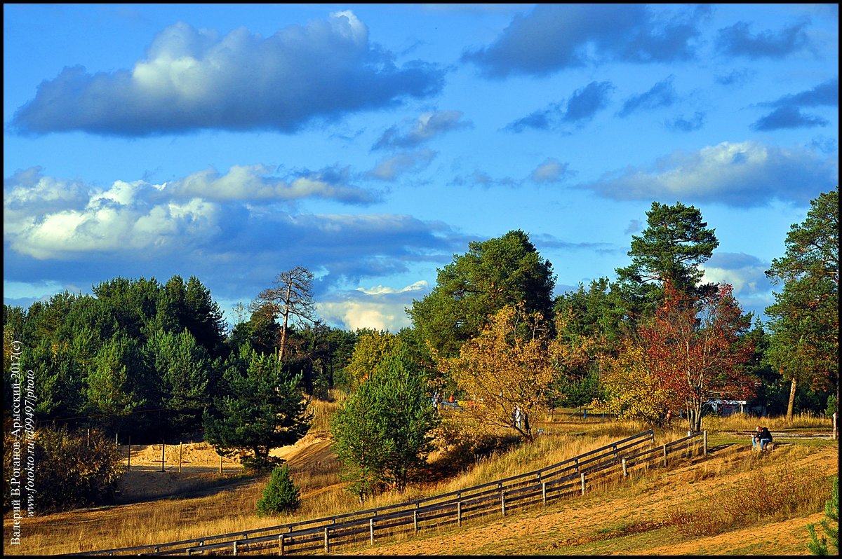
[[[13,550],[23,555],[54,555],[68,552],[92,551],[112,547],[141,546],[200,538],[208,535],[253,530],[259,527],[281,525],[302,519],[316,519],[342,514],[362,508],[370,509],[386,504],[404,502],[413,498],[447,493],[459,488],[472,487],[502,477],[530,472],[541,467],[583,454],[610,441],[647,430],[646,425],[631,421],[601,420],[536,422],[533,430],[543,429],[544,434],[530,444],[520,444],[508,450],[495,451],[479,458],[471,467],[440,483],[419,483],[404,493],[384,493],[361,506],[338,480],[338,462],[329,451],[329,418],[342,401],[336,394],[333,401],[313,400],[314,412],[308,443],[300,449],[290,450],[288,463],[292,479],[301,491],[301,509],[296,514],[274,518],[258,518],[256,502],[261,497],[268,477],[242,478],[236,488],[217,488],[213,493],[191,498],[161,499],[150,503],[121,505],[107,509],[74,511],[26,519],[22,526],[22,545]],[[715,424],[708,420],[705,428],[722,431],[749,431],[757,425],[758,418],[731,416],[717,418]],[[803,428],[830,429],[830,420],[801,415],[792,420],[764,418],[763,425],[770,430]],[[679,425],[669,432],[656,430],[658,440],[674,440],[685,435]],[[317,454],[315,452],[318,451]],[[311,454],[308,454],[311,453]],[[431,467],[443,458],[441,453],[431,456]],[[739,458],[727,468],[751,468],[751,461],[759,458],[754,453]],[[698,467],[693,475],[700,479],[722,475]],[[4,519],[5,541],[8,541],[9,519]],[[8,550],[7,550],[8,551]]]

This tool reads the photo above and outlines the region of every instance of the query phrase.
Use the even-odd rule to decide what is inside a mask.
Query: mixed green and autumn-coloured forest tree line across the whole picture
[[[423,373],[424,398],[456,393],[488,408],[494,400],[491,423],[509,425],[514,406],[601,406],[653,423],[669,407],[701,419],[708,398],[747,399],[766,414],[824,414],[838,400],[838,215],[837,187],[792,225],[786,254],[766,272],[781,289],[765,323],[743,313],[731,286],[702,282],[715,229],[682,203],[652,204],[615,279],[559,296],[552,263],[524,231],[472,242],[440,268],[431,293],[407,309],[412,325],[395,334],[323,323],[302,266],[280,272],[231,327],[197,277],[115,277],[90,295],[4,305],[4,409],[19,340],[20,362],[35,373],[40,424],[97,426],[138,444],[209,429],[235,437],[229,431],[244,410],[284,383],[292,399],[278,403],[288,417],[274,431],[286,434],[267,445],[297,440],[306,398],[359,390],[397,348]],[[692,340],[700,355],[714,348],[717,361],[676,352],[679,340]],[[679,368],[690,361],[705,382],[681,387]],[[511,386],[477,394],[488,386],[482,375],[504,369]]]

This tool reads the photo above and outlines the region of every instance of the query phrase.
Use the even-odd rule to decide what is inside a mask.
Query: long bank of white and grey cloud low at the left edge
[[[408,216],[289,214],[276,203],[256,204],[267,197],[275,202],[290,196],[321,198],[334,189],[313,177],[266,183],[258,171],[265,168],[234,167],[222,176],[202,171],[161,185],[115,181],[107,188],[45,177],[39,169],[19,171],[3,184],[3,241],[9,249],[38,259],[72,261],[108,253],[115,261],[120,255],[136,259],[139,254],[151,260],[203,250],[203,263],[225,261],[237,252],[274,252],[279,246],[290,254],[301,250],[301,256],[338,261],[352,254],[382,254],[388,262],[397,247],[403,247],[400,256],[411,260],[408,246],[434,250],[442,245],[434,233],[441,225]],[[344,199],[335,192],[331,196]],[[353,244],[357,247],[351,248]],[[388,248],[381,253],[379,245]],[[338,266],[343,274],[364,277],[366,269],[373,269],[370,261]]]

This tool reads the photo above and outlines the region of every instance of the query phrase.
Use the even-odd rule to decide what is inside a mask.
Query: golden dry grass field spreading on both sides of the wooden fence
[[[260,519],[255,504],[266,477],[246,477],[205,443],[133,447],[130,472],[117,504],[24,519],[21,545],[4,554],[56,555],[177,541],[280,525],[360,509],[338,481],[330,451],[328,417],[337,403],[318,403],[317,421],[294,446],[277,449],[301,490],[295,516]],[[376,546],[342,549],[342,555],[808,555],[806,525],[823,519],[828,477],[839,472],[839,444],[827,419],[765,419],[781,446],[751,452],[756,419],[710,418],[710,456],[669,470],[651,470],[616,488],[525,509]],[[402,495],[382,495],[365,508],[445,493],[576,456],[609,440],[645,430],[609,420],[573,419],[537,425],[545,435],[531,445],[495,451],[458,471],[446,452],[430,458],[426,483]],[[658,440],[683,435],[656,433]],[[667,437],[664,439],[664,437]],[[179,456],[182,471],[179,472]],[[779,491],[758,491],[758,487]],[[786,498],[785,494],[797,494]],[[8,544],[10,519],[4,519]],[[16,546],[18,547],[18,546]]]

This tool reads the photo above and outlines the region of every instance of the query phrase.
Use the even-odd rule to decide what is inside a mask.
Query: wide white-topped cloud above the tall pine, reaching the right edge
[[[722,142],[699,151],[676,151],[647,169],[606,173],[580,187],[617,200],[695,200],[758,207],[773,198],[808,203],[839,180],[835,159],[801,148]]]

